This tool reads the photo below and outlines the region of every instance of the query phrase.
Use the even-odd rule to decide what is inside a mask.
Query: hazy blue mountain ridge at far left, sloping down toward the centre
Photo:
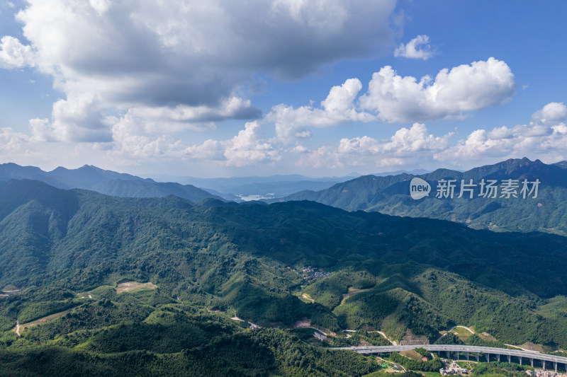
[[[175,195],[193,202],[214,198],[217,195],[201,190],[193,185],[180,185],[174,182],[155,182],[150,178],[116,173],[92,165],[78,169],[56,168],[46,172],[34,166],[19,166],[15,163],[0,164],[0,181],[11,179],[39,180],[61,189],[85,189],[115,197],[166,197]]]

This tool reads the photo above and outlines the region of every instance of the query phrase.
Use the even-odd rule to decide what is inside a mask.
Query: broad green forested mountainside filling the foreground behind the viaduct
[[[0,182],[0,364],[31,375],[66,363],[100,375],[124,363],[133,375],[376,368],[283,331],[299,320],[327,334],[430,341],[459,324],[511,344],[567,347],[566,252],[563,236],[315,202],[196,204],[10,180]],[[152,284],[121,292],[125,281]],[[54,313],[22,337],[10,331]],[[47,369],[29,369],[39,359],[51,360]]]

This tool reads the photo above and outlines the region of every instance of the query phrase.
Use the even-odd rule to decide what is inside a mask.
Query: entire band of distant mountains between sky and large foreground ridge
[[[175,195],[192,202],[203,199],[235,202],[263,199],[269,203],[310,200],[347,211],[378,211],[395,216],[455,221],[477,229],[546,231],[567,236],[567,161],[545,164],[539,160],[518,158],[465,172],[449,169],[424,172],[399,170],[352,179],[347,177],[344,178],[346,182],[337,177],[308,178],[303,175],[209,179],[177,177],[181,182],[156,182],[151,178],[89,165],[78,169],[60,167],[46,172],[32,166],[5,163],[0,165],[0,181],[40,180],[65,190],[80,188],[116,197]],[[425,180],[431,187],[429,195],[418,200],[410,197],[410,182],[416,177]],[[528,182],[539,180],[537,197],[534,198],[532,192],[529,197],[522,198],[522,187],[515,190],[519,197],[506,197],[501,195],[501,191],[496,197],[481,195],[483,180],[497,181],[498,190],[502,190],[500,185],[508,179],[517,180],[517,185],[521,185],[524,179]],[[442,180],[451,180],[453,197],[438,197],[438,184]],[[465,195],[459,198],[461,180],[466,184],[472,183],[473,188],[472,192],[464,190]],[[193,184],[187,183],[189,181]]]

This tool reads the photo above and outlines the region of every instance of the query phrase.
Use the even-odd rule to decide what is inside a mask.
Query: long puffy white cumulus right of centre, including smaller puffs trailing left
[[[384,66],[372,75],[364,95],[359,96],[361,81],[348,79],[340,86],[333,86],[320,107],[293,108],[280,104],[271,108],[265,120],[274,122],[280,139],[297,139],[310,137],[309,127],[374,120],[422,122],[460,118],[466,116],[465,112],[510,100],[515,88],[510,67],[492,57],[442,69],[435,79],[423,76],[420,81],[412,76],[400,76],[391,66]]]

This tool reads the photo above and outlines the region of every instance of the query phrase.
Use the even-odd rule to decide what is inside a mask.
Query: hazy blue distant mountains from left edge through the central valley
[[[376,173],[393,175],[400,173],[422,174],[426,170],[398,170]],[[304,175],[271,175],[268,177],[193,178],[174,175],[152,175],[140,178],[136,175],[103,170],[92,165],[77,169],[63,167],[44,171],[35,166],[19,166],[16,163],[0,164],[0,180],[40,180],[65,190],[81,188],[116,197],[165,197],[176,195],[191,201],[206,198],[240,202],[254,196],[278,198],[304,190],[324,190],[345,180],[359,177],[352,173],[343,177],[310,178]],[[201,188],[202,187],[202,188]]]

